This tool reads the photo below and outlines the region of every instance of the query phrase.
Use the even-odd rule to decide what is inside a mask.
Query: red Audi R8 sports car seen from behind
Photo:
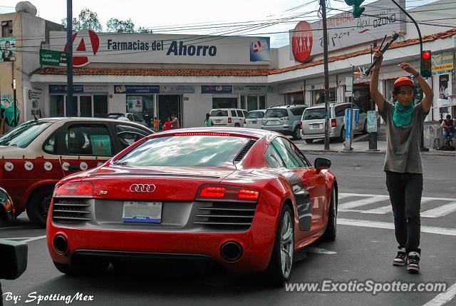
[[[330,165],[311,165],[271,131],[155,133],[56,185],[48,250],[67,274],[99,272],[118,257],[207,257],[283,283],[296,250],[336,238]]]

